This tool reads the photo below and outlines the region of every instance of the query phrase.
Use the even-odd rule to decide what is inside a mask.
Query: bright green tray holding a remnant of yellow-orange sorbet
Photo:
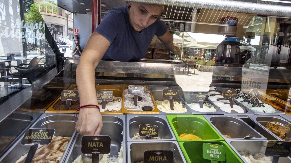
[[[178,142],[224,140],[203,115],[166,115],[166,117]],[[191,133],[194,130],[194,134],[202,140],[182,140],[179,138],[182,133]]]

